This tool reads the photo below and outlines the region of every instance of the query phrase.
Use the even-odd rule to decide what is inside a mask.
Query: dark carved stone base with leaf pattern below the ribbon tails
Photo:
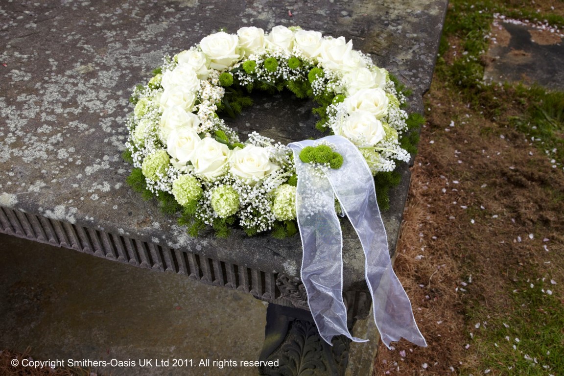
[[[349,323],[351,328],[352,322]],[[260,374],[344,375],[349,361],[350,342],[350,339],[341,335],[334,337],[333,346],[329,346],[319,336],[310,312],[269,304],[260,360],[278,360],[278,366],[260,368]]]

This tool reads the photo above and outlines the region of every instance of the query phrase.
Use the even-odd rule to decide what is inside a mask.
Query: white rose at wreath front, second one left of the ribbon
[[[205,180],[213,180],[226,172],[227,160],[231,151],[227,145],[206,137],[198,144],[192,154],[194,173]]]

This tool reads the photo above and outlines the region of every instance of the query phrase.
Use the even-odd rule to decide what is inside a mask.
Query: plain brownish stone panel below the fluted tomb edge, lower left
[[[3,234],[0,286],[0,350],[30,346],[34,359],[65,364],[135,362],[91,368],[114,376],[258,375],[255,367],[213,365],[258,360],[267,303],[241,291]],[[140,366],[143,359],[153,366]],[[173,367],[173,359],[193,366]],[[202,359],[210,366],[197,366]]]

